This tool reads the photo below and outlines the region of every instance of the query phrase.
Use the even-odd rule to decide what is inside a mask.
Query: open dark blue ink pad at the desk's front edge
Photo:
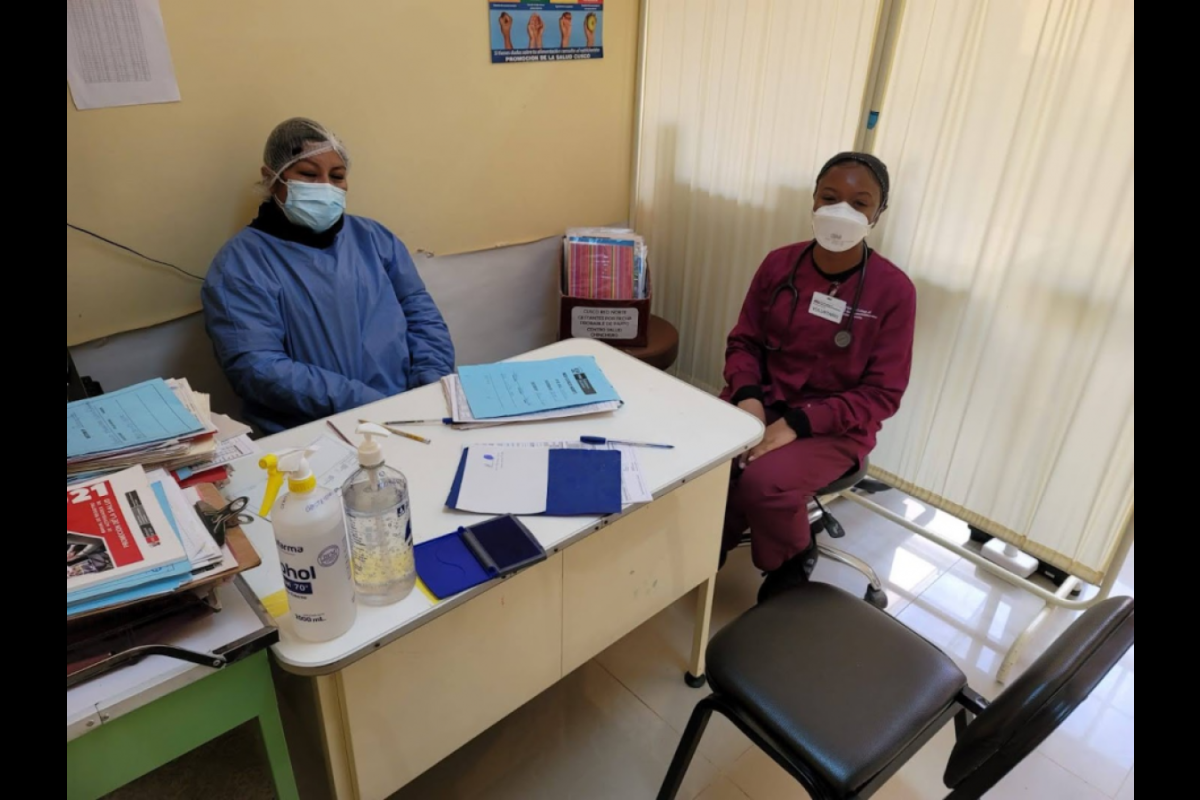
[[[546,551],[516,517],[499,517],[418,545],[416,575],[438,600],[515,575],[546,560]]]

